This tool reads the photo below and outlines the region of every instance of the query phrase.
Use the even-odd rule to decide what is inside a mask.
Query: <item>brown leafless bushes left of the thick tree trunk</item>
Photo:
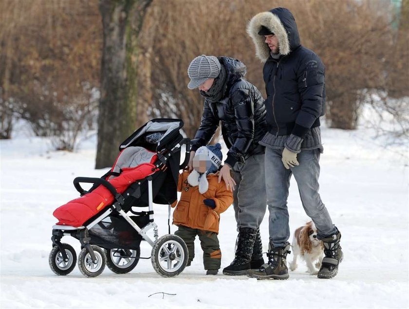
[[[96,1],[0,1],[0,12],[2,124],[14,113],[56,149],[73,150],[96,116]]]

